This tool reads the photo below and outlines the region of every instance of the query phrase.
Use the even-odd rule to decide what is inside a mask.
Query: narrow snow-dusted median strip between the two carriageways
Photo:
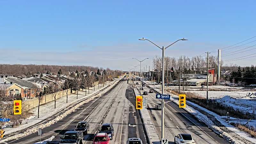
[[[133,92],[135,95],[140,95],[140,92],[136,88],[133,88]],[[147,108],[141,109],[140,112],[146,127],[146,131],[147,131],[148,139],[150,143],[152,144],[160,143],[159,136],[156,133],[156,129],[151,121]]]

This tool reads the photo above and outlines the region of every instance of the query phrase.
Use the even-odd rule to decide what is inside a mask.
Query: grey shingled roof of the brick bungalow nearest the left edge
[[[24,80],[24,79],[19,79],[19,78],[12,77],[12,76],[7,77],[7,78],[5,77],[4,81],[6,81],[8,83],[12,82],[14,84],[18,84],[23,89],[40,88],[41,87],[40,84],[36,84],[36,83],[30,82],[30,81],[27,81],[27,80]]]

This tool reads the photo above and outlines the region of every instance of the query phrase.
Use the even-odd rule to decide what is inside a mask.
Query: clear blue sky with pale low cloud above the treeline
[[[192,57],[256,36],[255,5],[253,0],[0,1],[0,63],[127,70],[136,64],[131,60],[135,56],[150,58],[144,65],[152,66],[161,51],[138,41],[141,37],[161,46],[188,38],[166,55]],[[226,59],[235,57],[240,55]]]

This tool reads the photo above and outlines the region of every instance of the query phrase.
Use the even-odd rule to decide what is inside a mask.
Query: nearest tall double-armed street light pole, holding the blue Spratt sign
[[[142,38],[142,39],[139,39],[139,40],[147,40],[147,41],[149,41],[150,43],[152,43],[152,44],[154,44],[153,42],[151,42],[150,40],[148,40],[148,39],[145,39],[145,38]],[[179,40],[177,40],[177,41],[175,41],[174,43],[176,43],[176,42],[178,42],[178,41],[180,41],[180,40],[187,40],[187,39],[179,39]],[[172,43],[172,44],[174,44],[174,43]],[[171,46],[172,44],[170,44],[169,46]],[[156,45],[156,44],[154,44],[154,45]],[[163,61],[162,61],[162,67],[163,67],[163,69],[162,69],[162,94],[164,94],[164,50],[166,50],[169,46],[167,46],[167,47],[159,47],[158,45],[156,45],[158,48],[160,48],[161,50],[162,50],[162,52],[163,52]],[[164,138],[164,100],[162,100],[162,123],[161,123],[161,138],[163,139]]]

